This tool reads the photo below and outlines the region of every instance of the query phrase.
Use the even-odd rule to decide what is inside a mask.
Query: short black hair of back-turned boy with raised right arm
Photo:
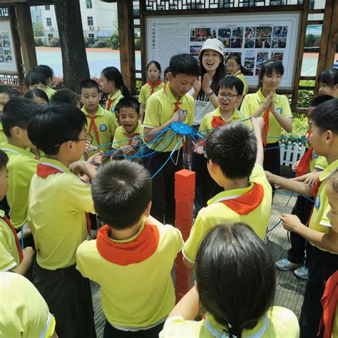
[[[205,143],[212,160],[227,178],[249,178],[256,162],[257,140],[242,123],[229,123],[212,130]]]

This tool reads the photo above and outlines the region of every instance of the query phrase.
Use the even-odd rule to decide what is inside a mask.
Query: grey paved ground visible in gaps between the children
[[[269,226],[270,229],[277,224],[282,212],[291,212],[296,198],[292,197],[290,201],[289,199],[290,197],[287,195],[275,195],[274,203],[272,205],[272,217]],[[274,260],[279,260],[286,257],[290,244],[287,240],[287,231],[284,230],[282,225],[277,225],[274,230],[268,232],[267,245],[271,250]],[[282,272],[277,270],[277,292],[275,304],[292,309],[297,317],[299,317],[304,288],[304,280],[299,280],[297,277],[295,277],[295,275],[293,275],[292,272]],[[101,308],[100,290],[98,285],[92,284],[92,292],[96,332],[98,334],[98,338],[101,338],[103,337],[105,318]]]

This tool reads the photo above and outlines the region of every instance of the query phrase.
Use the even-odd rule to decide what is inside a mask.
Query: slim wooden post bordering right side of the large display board
[[[300,35],[299,35],[299,43],[298,43],[298,57],[297,57],[297,64],[296,64],[295,82],[293,85],[293,93],[292,93],[292,101],[291,101],[292,110],[297,108],[299,80],[300,80],[300,74],[302,72],[305,36],[307,34],[308,11],[309,11],[309,0],[304,0],[304,8],[302,11],[302,23],[300,26]]]

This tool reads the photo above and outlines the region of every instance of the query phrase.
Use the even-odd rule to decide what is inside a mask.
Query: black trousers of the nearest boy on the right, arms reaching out
[[[324,293],[325,283],[338,269],[338,255],[319,250],[309,242],[307,246],[310,252],[309,273],[299,319],[300,338],[315,338],[323,313],[320,299]],[[319,337],[323,337],[323,332]]]

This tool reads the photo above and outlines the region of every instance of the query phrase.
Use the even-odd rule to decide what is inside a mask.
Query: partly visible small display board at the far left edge
[[[1,71],[17,71],[9,20],[0,21],[0,72]]]

